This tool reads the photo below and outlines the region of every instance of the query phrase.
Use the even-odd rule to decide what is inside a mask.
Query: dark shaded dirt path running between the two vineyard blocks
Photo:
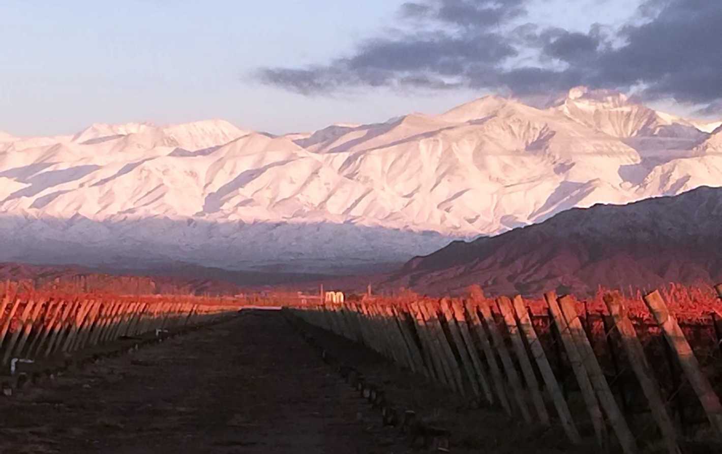
[[[403,453],[278,312],[248,312],[0,401],[0,453]]]

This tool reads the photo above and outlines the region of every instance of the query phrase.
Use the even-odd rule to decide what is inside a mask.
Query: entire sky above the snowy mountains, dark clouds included
[[[708,0],[2,0],[0,130],[301,132],[575,84],[722,117],[720,19]]]

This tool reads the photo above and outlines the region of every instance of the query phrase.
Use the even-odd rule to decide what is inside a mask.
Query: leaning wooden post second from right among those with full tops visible
[[[667,450],[670,454],[679,454],[677,432],[674,430],[674,424],[672,424],[669,414],[667,414],[664,399],[659,393],[659,383],[654,378],[652,366],[644,354],[642,344],[637,337],[637,331],[635,331],[632,321],[627,316],[627,308],[619,295],[604,295],[604,303],[606,303],[609,313],[612,314],[614,325],[617,326],[617,331],[622,337],[622,346],[627,352],[632,370],[637,375],[642,391],[649,402],[652,417],[657,422],[662,437],[664,437]]]

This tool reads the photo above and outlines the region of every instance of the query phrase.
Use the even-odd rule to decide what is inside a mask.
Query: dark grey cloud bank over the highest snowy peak
[[[399,14],[414,21],[416,32],[368,40],[325,66],[264,68],[258,76],[304,94],[354,86],[466,86],[522,96],[585,84],[643,86],[646,98],[722,103],[721,1],[648,0],[635,22],[613,32],[595,25],[588,33],[532,23],[512,27],[526,14],[526,1],[410,1]],[[512,64],[521,50],[534,52],[539,63]]]

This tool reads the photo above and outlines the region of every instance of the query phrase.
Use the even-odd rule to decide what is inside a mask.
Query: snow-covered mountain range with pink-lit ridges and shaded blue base
[[[0,260],[349,272],[722,182],[722,133],[573,89],[269,135],[221,120],[0,134]]]

